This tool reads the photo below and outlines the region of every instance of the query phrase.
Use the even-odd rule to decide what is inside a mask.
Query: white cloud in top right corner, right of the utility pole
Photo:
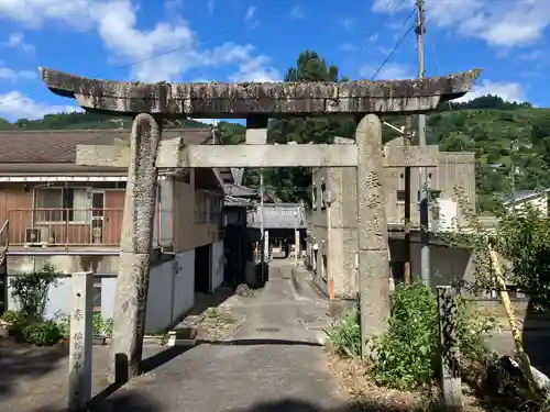
[[[394,5],[400,0],[393,0]],[[374,0],[373,11],[392,12],[385,9],[386,0]],[[399,8],[410,9],[414,0]],[[548,0],[446,0],[427,1],[428,25],[449,29],[466,37],[485,41],[492,46],[516,47],[540,41],[550,26],[550,1]]]

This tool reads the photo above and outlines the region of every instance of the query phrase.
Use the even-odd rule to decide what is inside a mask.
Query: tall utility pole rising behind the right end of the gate
[[[425,56],[424,56],[424,36],[426,34],[426,19],[425,19],[425,0],[416,0],[417,9],[417,24],[416,36],[418,42],[418,78],[422,79],[425,76]],[[420,149],[426,149],[426,114],[419,114],[417,119],[418,126],[418,145]],[[420,168],[420,270],[422,283],[430,285],[430,233],[429,233],[429,181],[428,169]]]

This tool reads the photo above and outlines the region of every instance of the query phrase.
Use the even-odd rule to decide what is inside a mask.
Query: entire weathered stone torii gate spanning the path
[[[432,166],[430,151],[382,146],[377,114],[411,114],[465,94],[474,69],[421,80],[266,83],[140,83],[88,79],[41,68],[51,91],[89,111],[133,116],[130,147],[79,146],[77,163],[129,167],[123,215],[112,357],[139,374],[154,193],[158,167],[343,167],[358,170],[361,331],[383,332],[389,313],[387,226],[383,167]],[[354,145],[267,145],[270,118],[348,114],[358,119]],[[163,118],[246,119],[246,145],[187,146],[161,141]],[[138,334],[135,334],[138,331]],[[138,335],[138,336],[135,336]]]

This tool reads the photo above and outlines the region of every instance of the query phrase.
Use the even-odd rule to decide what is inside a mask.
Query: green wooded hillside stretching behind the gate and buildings
[[[385,119],[396,126],[405,122],[403,116]],[[299,141],[321,143],[330,141],[331,133],[351,137],[353,127],[349,120],[339,124],[333,119],[273,121],[268,140],[278,143]],[[10,123],[0,119],[0,130],[54,130],[54,129],[118,129],[130,127],[130,119],[113,119],[96,113],[48,114],[41,120],[25,119]],[[184,120],[170,121],[166,127],[204,127],[205,123]],[[244,142],[244,126],[220,122],[223,144]],[[396,134],[384,127],[385,142]],[[468,103],[447,104],[428,115],[427,141],[439,144],[442,151],[471,151],[476,154],[476,186],[479,207],[492,210],[495,197],[510,190],[512,168],[515,189],[550,188],[550,109],[536,109],[529,103],[509,103],[495,96],[486,96]],[[516,149],[513,149],[514,142]],[[286,169],[266,171],[266,185],[285,201],[309,198],[305,174]],[[304,176],[302,176],[304,175]],[[249,170],[246,181],[257,185],[257,170]]]

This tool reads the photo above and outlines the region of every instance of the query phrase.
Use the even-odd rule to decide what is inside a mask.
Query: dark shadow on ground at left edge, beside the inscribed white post
[[[32,347],[0,337],[0,403],[18,382],[55,370],[66,356],[61,347]]]

